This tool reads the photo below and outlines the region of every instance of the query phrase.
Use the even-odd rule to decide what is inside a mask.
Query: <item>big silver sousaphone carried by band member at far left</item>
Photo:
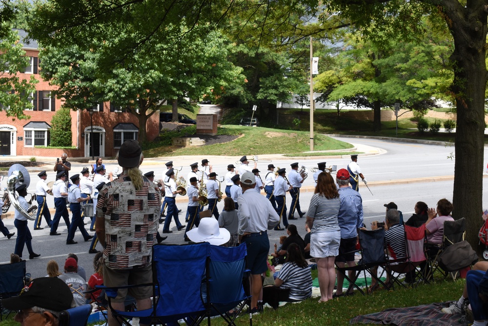
[[[8,190],[8,197],[12,204],[14,205],[15,209],[22,214],[23,217],[31,220],[36,220],[37,217],[37,205],[31,205],[25,210],[18,200],[18,195],[15,192],[15,189],[20,185],[25,184],[29,187],[30,184],[30,176],[27,169],[20,164],[14,164],[8,170],[8,179],[7,179],[7,190]],[[31,203],[33,198],[31,197]]]

